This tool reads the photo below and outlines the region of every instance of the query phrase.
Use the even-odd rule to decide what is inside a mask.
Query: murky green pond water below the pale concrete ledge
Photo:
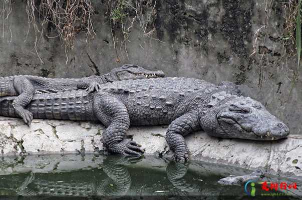
[[[129,195],[144,196],[192,195],[194,198],[246,199],[249,194],[243,185],[220,185],[217,181],[229,174],[243,175],[251,171],[238,167],[191,160],[175,163],[156,156],[122,157],[96,154],[46,154],[23,157],[3,157],[0,164],[1,195]],[[261,188],[267,181],[291,184],[296,189]],[[272,194],[283,199],[286,194],[302,195],[302,181],[267,174],[255,182],[256,195]],[[251,192],[252,186],[247,185]],[[175,196],[178,196],[175,198]],[[271,196],[270,196],[271,197]],[[298,196],[296,196],[298,197]],[[290,198],[295,199],[294,196]],[[1,197],[0,197],[1,199]],[[270,198],[267,198],[270,199]]]

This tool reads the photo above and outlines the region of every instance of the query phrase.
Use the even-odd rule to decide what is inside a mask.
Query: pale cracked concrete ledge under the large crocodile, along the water
[[[131,126],[128,135],[142,144],[145,154],[172,156],[165,126]],[[105,127],[91,121],[35,119],[31,127],[21,119],[0,117],[2,155],[19,153],[103,152]],[[223,163],[302,179],[302,136],[276,141],[222,139],[203,131],[185,137],[191,159]]]

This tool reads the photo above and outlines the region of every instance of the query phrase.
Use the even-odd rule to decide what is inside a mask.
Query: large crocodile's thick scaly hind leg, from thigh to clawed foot
[[[102,141],[109,152],[119,155],[140,155],[144,151],[139,143],[125,138],[130,119],[122,101],[100,93],[94,99],[93,108],[96,116],[107,126]]]

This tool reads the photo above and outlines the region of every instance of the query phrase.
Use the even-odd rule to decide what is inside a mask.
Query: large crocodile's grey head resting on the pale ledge
[[[208,132],[219,137],[274,140],[289,134],[288,127],[280,119],[250,97],[229,98],[218,105],[212,118],[214,125]]]

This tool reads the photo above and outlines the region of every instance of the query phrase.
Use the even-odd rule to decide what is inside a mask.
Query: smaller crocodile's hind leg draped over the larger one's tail
[[[31,102],[35,89],[33,84],[25,77],[15,77],[14,87],[19,93],[19,96],[13,101],[13,106],[16,113],[23,118],[23,120],[30,125],[33,120],[33,113],[25,109],[25,107]]]

